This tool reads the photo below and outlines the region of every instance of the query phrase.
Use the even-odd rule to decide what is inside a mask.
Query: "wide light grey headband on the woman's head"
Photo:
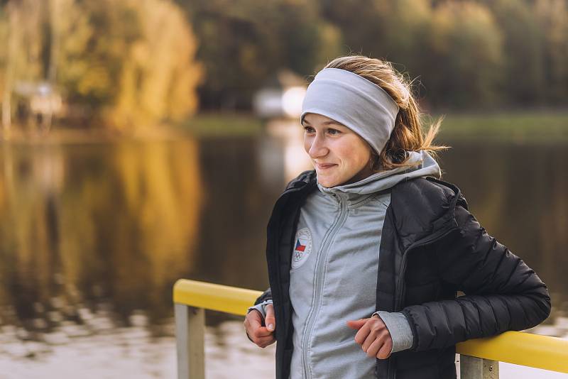
[[[398,105],[384,89],[339,68],[324,68],[307,87],[300,122],[308,113],[344,124],[381,153],[395,127]]]

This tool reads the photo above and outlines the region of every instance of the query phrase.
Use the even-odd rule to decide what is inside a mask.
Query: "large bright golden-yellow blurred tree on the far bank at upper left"
[[[58,82],[72,104],[104,125],[179,121],[197,108],[197,43],[180,9],[164,0],[67,1]],[[156,33],[160,31],[160,33]]]

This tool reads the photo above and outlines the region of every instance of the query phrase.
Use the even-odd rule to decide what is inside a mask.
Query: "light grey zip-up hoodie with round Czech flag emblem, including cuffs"
[[[374,378],[375,358],[355,343],[356,331],[346,322],[371,317],[377,308],[379,246],[391,187],[410,178],[440,176],[425,151],[408,154],[413,167],[377,172],[349,185],[318,183],[320,190],[302,206],[290,268],[290,379]],[[391,334],[393,352],[412,346],[403,314],[378,315]]]

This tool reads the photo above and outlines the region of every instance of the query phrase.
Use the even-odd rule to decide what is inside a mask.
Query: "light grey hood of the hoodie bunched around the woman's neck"
[[[324,187],[318,182],[317,187],[324,194],[348,194],[349,199],[354,199],[357,195],[373,194],[391,188],[403,180],[425,176],[433,176],[439,179],[442,175],[439,165],[427,151],[408,151],[407,155],[407,163],[411,167],[396,167],[393,170],[376,172],[359,180],[359,182],[349,183],[348,185]]]

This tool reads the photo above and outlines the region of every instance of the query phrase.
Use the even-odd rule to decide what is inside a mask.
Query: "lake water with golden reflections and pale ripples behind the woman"
[[[310,168],[280,134],[0,145],[0,379],[174,378],[175,280],[267,286],[271,207]],[[568,143],[442,142],[444,180],[550,289],[531,331],[568,338]],[[208,378],[273,375],[239,318],[209,312],[206,340]]]

